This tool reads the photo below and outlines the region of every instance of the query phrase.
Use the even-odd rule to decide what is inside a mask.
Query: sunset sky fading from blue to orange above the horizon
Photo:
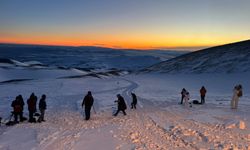
[[[199,49],[250,39],[250,0],[0,0],[0,43]]]

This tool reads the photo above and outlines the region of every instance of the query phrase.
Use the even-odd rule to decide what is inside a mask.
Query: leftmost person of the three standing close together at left
[[[23,101],[20,99],[20,96],[17,96],[16,99],[11,103],[11,107],[13,107],[13,114],[14,114],[14,121],[18,123],[18,116],[19,120],[23,121]]]

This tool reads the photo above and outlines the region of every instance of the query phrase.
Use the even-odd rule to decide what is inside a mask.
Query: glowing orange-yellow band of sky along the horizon
[[[33,37],[33,38],[3,38],[0,37],[0,43],[13,43],[13,44],[34,44],[34,45],[52,45],[52,46],[100,46],[117,49],[176,49],[188,50],[203,47],[212,47],[221,44],[232,43],[240,40],[236,39],[140,39],[140,38],[124,38],[118,39],[115,36],[106,37],[106,40],[82,40],[81,37]],[[129,40],[127,40],[129,39]],[[163,39],[163,40],[160,40]],[[245,39],[242,39],[245,40]],[[220,42],[218,42],[220,41]]]

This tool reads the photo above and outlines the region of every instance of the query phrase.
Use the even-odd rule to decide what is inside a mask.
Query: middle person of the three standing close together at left
[[[37,97],[34,93],[30,95],[30,98],[27,100],[28,110],[29,110],[29,122],[36,122],[34,118],[34,113],[36,112],[36,102]]]

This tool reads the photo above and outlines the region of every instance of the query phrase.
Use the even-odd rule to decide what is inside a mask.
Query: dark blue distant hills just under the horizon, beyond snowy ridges
[[[167,50],[128,50],[92,46],[42,46],[0,44],[0,67],[43,66],[78,68],[81,70],[137,71],[179,56],[185,52]],[[15,61],[15,62],[13,62]],[[18,63],[16,63],[18,62]],[[26,63],[28,62],[28,64]]]

